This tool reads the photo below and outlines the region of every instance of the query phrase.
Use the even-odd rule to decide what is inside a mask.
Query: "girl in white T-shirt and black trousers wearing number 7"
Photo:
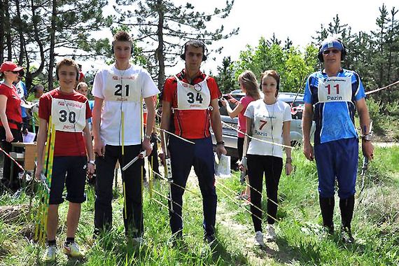
[[[277,213],[277,190],[283,169],[283,148],[279,144],[290,146],[290,106],[277,99],[280,76],[274,70],[268,70],[260,76],[263,99],[251,102],[246,116],[248,139],[246,152],[248,178],[251,186],[251,213],[255,229],[255,245],[265,246],[262,235],[262,179],[265,174],[267,190],[267,240],[274,240],[273,224]],[[246,148],[246,147],[244,147]],[[291,150],[285,148],[286,174],[290,174]],[[245,154],[245,153],[244,153]]]

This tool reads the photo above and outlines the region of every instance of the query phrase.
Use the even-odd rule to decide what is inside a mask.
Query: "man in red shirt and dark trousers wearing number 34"
[[[181,58],[186,62],[186,68],[176,76],[167,78],[162,98],[161,128],[195,142],[190,144],[169,136],[168,151],[163,151],[164,155],[167,152],[170,154],[172,178],[178,185],[171,187],[173,208],[169,202],[172,243],[183,237],[183,188],[186,187],[188,174],[194,166],[202,193],[204,240],[211,244],[216,239],[217,202],[214,153],[209,132],[211,125],[217,141],[218,155],[227,153],[222,140],[221,114],[218,107],[221,92],[214,78],[200,71],[202,61],[207,59],[204,43],[197,40],[188,41],[183,49]],[[162,144],[162,149],[165,150],[164,147]]]

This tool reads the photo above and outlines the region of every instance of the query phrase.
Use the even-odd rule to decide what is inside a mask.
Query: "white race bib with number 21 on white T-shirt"
[[[105,100],[116,102],[140,102],[141,90],[137,77],[138,75],[121,77],[115,73],[109,73],[106,78]]]

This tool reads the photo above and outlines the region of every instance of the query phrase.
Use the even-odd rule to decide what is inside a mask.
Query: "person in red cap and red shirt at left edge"
[[[22,69],[10,61],[3,62],[0,67],[1,76],[4,78],[0,85],[0,137],[1,146],[6,153],[11,151],[11,142],[22,141],[21,99],[17,94],[17,88],[13,85]],[[11,167],[15,168],[12,177],[10,176]],[[15,164],[10,158],[4,156],[3,179],[1,179],[3,186],[18,190],[20,188],[18,173]]]

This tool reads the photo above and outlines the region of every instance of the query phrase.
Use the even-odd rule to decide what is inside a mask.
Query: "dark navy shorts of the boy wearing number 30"
[[[66,200],[73,203],[85,202],[86,156],[55,156],[52,162],[50,204],[64,202],[62,193],[66,186]]]

